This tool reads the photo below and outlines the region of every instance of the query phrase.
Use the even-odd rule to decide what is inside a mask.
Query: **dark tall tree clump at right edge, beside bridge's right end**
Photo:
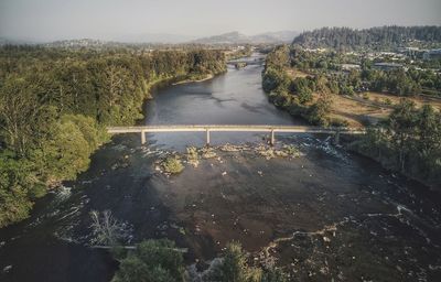
[[[354,147],[424,183],[441,182],[441,113],[431,106],[417,110],[412,102],[401,100],[386,122]]]

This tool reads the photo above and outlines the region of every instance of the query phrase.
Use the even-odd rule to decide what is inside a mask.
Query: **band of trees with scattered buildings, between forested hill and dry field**
[[[290,66],[326,75],[334,80],[338,94],[352,95],[362,90],[387,91],[399,96],[441,93],[441,74],[431,69],[411,66],[407,70],[404,67],[383,70],[374,67],[375,59],[363,55],[346,55],[335,51],[315,53],[299,47],[292,48],[290,58]],[[343,64],[356,64],[359,68],[343,72]]]

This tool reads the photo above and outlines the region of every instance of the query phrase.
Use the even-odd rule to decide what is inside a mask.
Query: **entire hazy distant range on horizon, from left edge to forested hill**
[[[166,33],[142,33],[123,34],[110,36],[111,40],[75,39],[60,40],[54,42],[43,42],[34,40],[0,37],[0,45],[4,44],[43,44],[47,46],[100,46],[118,44],[258,44],[258,43],[290,43],[299,35],[294,31],[266,32],[256,35],[245,35],[237,31],[224,33],[215,36],[201,37],[191,35],[166,34]]]

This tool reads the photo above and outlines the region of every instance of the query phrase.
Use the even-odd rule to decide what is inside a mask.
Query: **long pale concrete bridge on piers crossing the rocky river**
[[[236,124],[206,124],[206,126],[146,126],[146,127],[109,127],[110,134],[140,133],[141,143],[146,143],[146,133],[158,132],[205,132],[206,144],[209,145],[211,132],[268,132],[270,143],[275,144],[276,133],[322,133],[333,134],[335,142],[338,143],[340,134],[364,134],[363,129],[354,128],[320,128],[320,127],[298,127],[298,126],[236,126]]]

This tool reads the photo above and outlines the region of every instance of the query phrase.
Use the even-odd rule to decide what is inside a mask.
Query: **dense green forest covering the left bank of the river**
[[[150,87],[225,70],[219,51],[0,48],[0,227],[85,171],[108,137],[132,124]]]

